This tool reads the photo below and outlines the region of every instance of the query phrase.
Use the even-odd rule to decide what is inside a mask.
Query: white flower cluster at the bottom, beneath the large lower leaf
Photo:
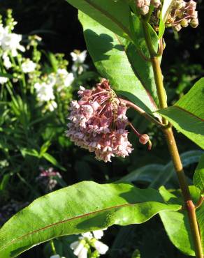
[[[105,230],[105,229],[103,229]],[[108,245],[105,245],[99,239],[103,236],[103,230],[95,230],[94,232],[87,232],[79,237],[78,241],[71,243],[70,247],[73,254],[78,258],[87,258],[88,251],[94,248],[94,257],[105,255],[108,252]]]

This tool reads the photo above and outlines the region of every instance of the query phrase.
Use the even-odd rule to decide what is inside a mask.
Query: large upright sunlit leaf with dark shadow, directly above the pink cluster
[[[136,47],[112,33],[89,16],[79,12],[87,49],[101,75],[110,80],[118,94],[152,112],[156,109],[156,86],[150,63]],[[152,98],[154,97],[154,99]]]

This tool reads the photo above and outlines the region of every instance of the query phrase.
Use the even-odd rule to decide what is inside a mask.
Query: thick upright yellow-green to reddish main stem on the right
[[[159,107],[165,108],[167,107],[167,101],[166,101],[166,91],[163,87],[163,78],[161,73],[161,67],[158,57],[155,55],[155,52],[152,51],[152,40],[150,37],[150,33],[148,30],[148,24],[145,20],[143,20],[143,29],[145,31],[145,40],[147,43],[147,47],[150,52],[151,61],[152,61],[152,68],[154,70],[154,79],[156,83],[156,91],[159,98]],[[154,49],[153,49],[154,50]],[[163,119],[164,124],[168,124],[165,119]],[[180,159],[180,154],[177,150],[177,144],[175,142],[175,137],[173,135],[173,130],[171,126],[166,126],[162,128],[163,134],[166,137],[166,142],[168,144],[168,150],[170,151],[171,158],[173,160],[173,165],[175,167],[175,171],[177,173],[177,178],[180,183],[180,188],[182,190],[182,195],[184,197],[184,203],[187,208],[187,213],[189,217],[189,224],[191,227],[191,234],[194,239],[194,248],[196,252],[197,258],[203,258],[203,251],[202,251],[202,245],[201,245],[201,236],[198,229],[198,222],[196,219],[196,207],[191,199],[191,194],[189,191],[189,186],[187,184],[187,179],[184,174],[184,169],[182,166],[182,162]]]

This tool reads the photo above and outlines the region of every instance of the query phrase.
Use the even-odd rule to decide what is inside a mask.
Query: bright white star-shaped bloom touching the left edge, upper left
[[[5,29],[3,35],[1,35],[1,47],[3,51],[10,51],[13,56],[17,56],[17,50],[25,51],[24,47],[20,45],[21,40],[22,35],[8,33]]]

